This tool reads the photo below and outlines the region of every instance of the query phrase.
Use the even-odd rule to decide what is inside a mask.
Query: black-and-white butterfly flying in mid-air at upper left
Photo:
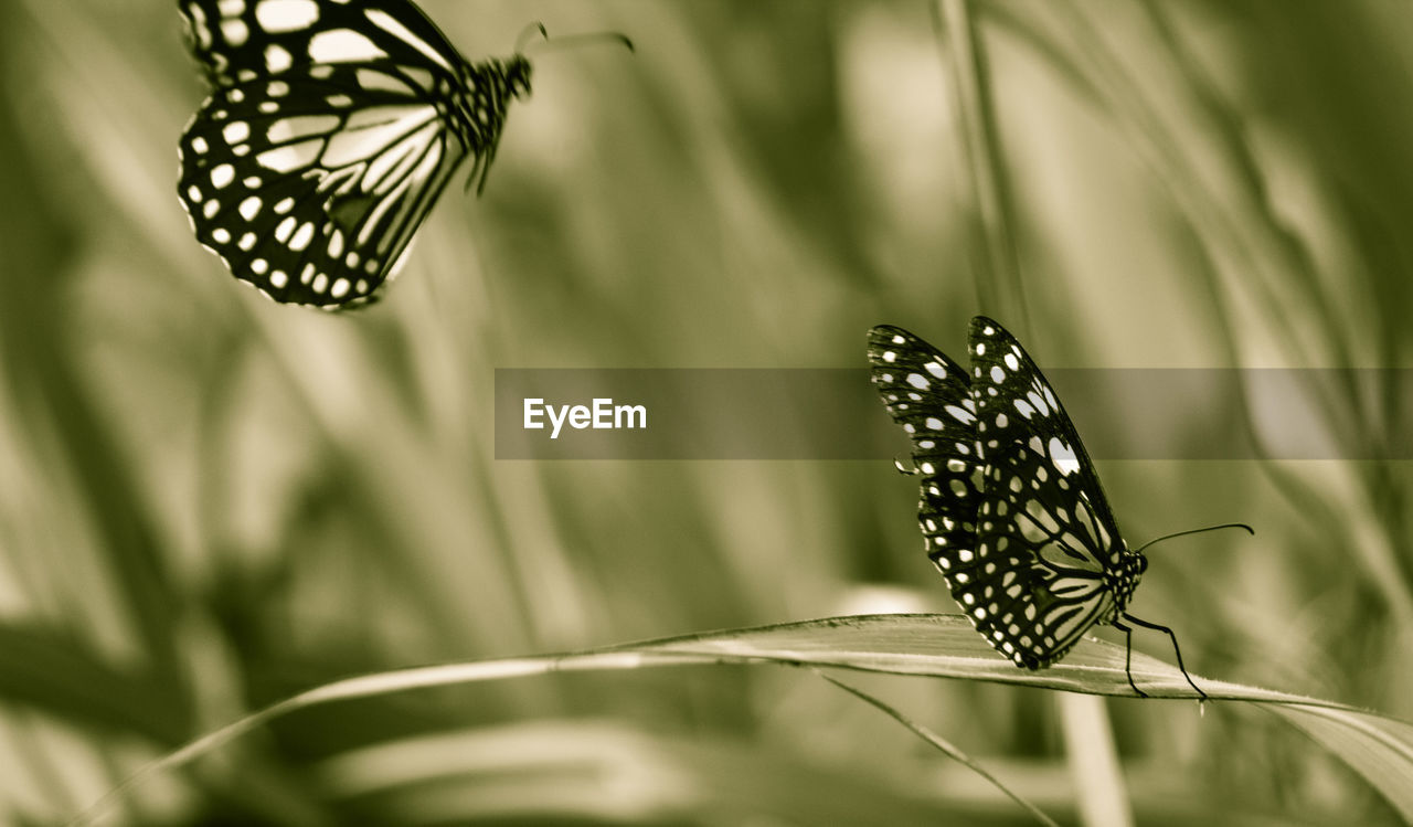
[[[468,157],[466,187],[485,188],[509,103],[530,95],[520,45],[471,64],[410,0],[179,7],[212,95],[182,134],[178,194],[196,239],[276,301],[374,301]]]

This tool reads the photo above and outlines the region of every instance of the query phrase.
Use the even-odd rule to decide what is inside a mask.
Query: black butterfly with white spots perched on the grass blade
[[[1126,611],[1152,543],[1129,549],[1119,534],[1050,382],[986,317],[972,319],[969,351],[968,372],[901,328],[880,325],[868,339],[873,385],[913,442],[927,554],[966,618],[992,647],[1030,670],[1056,663],[1089,628],[1109,623],[1125,633],[1125,671],[1142,697],[1129,623],[1164,632],[1183,677],[1207,698],[1187,674],[1173,630]],[[1239,523],[1214,527],[1251,532]]]

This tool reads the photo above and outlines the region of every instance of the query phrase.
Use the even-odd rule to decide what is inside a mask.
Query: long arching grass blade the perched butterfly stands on
[[[892,674],[952,677],[1043,688],[1135,697],[1123,669],[1125,649],[1087,638],[1041,671],[1016,669],[982,640],[962,615],[862,615],[728,629],[625,643],[586,652],[403,669],[325,684],[247,715],[148,765],[78,823],[96,819],[120,793],[146,778],[182,766],[290,712],[332,701],[415,688],[548,674],[702,663],[777,663]],[[1413,819],[1413,725],[1344,704],[1193,676],[1212,701],[1252,701],[1310,734]],[[1177,669],[1133,653],[1133,680],[1152,698],[1193,698]]]

